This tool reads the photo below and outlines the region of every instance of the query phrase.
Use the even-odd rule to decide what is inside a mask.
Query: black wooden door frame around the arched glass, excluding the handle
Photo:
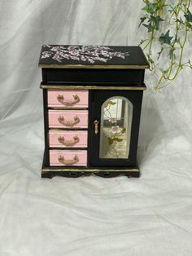
[[[129,99],[133,104],[133,117],[132,117],[132,128],[130,138],[130,149],[128,159],[101,159],[99,158],[99,135],[100,135],[100,124],[101,124],[101,108],[103,103],[111,97],[124,96]],[[102,90],[96,90],[93,92],[93,109],[92,109],[92,130],[91,130],[91,166],[135,166],[137,162],[137,140],[140,124],[140,115],[142,108],[142,90],[107,90],[103,93]],[[94,120],[97,119],[99,122],[98,135],[94,135]]]

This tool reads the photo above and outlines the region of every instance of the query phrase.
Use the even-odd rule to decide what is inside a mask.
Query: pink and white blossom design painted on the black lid
[[[41,59],[52,58],[58,62],[63,59],[88,61],[94,64],[95,61],[106,63],[112,58],[124,59],[129,52],[114,51],[107,46],[43,46],[49,51],[42,51]]]

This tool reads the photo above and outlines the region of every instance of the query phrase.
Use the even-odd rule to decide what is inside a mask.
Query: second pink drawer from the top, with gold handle
[[[49,110],[50,127],[88,127],[87,110]]]

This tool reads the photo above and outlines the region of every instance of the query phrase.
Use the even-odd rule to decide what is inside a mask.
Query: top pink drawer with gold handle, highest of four
[[[88,90],[48,90],[49,107],[88,107]]]

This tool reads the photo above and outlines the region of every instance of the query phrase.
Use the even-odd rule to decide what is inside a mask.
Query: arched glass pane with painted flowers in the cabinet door
[[[99,158],[129,158],[133,104],[122,96],[107,99],[101,109]]]

